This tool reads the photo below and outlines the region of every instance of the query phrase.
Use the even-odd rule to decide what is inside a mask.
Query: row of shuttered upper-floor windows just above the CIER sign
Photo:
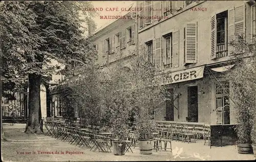
[[[233,49],[228,43],[236,40],[235,35],[250,33],[252,39],[255,34],[255,5],[244,12],[245,6],[239,6],[223,11],[211,17],[211,59],[232,55]],[[248,20],[245,24],[245,18]],[[164,68],[179,66],[179,31],[160,36],[145,42],[148,60],[157,67]],[[197,22],[186,24],[184,35],[184,65],[197,63]]]

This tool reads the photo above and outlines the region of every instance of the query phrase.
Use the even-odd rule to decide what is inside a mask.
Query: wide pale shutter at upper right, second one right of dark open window
[[[234,36],[237,39],[238,35],[245,33],[245,6],[234,8]]]

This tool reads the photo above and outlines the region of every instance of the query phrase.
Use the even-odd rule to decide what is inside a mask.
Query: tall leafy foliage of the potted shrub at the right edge
[[[236,66],[224,74],[224,78],[231,81],[234,87],[230,99],[234,102],[236,120],[238,122],[237,135],[239,143],[251,143],[252,126],[255,125],[256,109],[256,64],[255,41],[248,42],[242,35],[233,41],[233,58]],[[254,132],[255,133],[255,132]],[[254,139],[255,140],[255,139]],[[254,141],[255,143],[255,141]]]

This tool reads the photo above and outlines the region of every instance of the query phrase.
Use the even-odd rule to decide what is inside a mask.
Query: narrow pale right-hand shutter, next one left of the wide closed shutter
[[[179,31],[173,32],[173,67],[179,67]]]

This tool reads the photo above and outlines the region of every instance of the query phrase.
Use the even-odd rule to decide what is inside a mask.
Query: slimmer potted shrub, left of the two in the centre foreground
[[[112,146],[114,155],[125,154],[125,140],[131,113],[131,93],[124,85],[128,80],[126,73],[122,71],[122,65],[117,64],[112,70],[109,80],[104,82],[105,111],[109,112],[109,122],[112,130]],[[103,89],[102,88],[102,89]]]

